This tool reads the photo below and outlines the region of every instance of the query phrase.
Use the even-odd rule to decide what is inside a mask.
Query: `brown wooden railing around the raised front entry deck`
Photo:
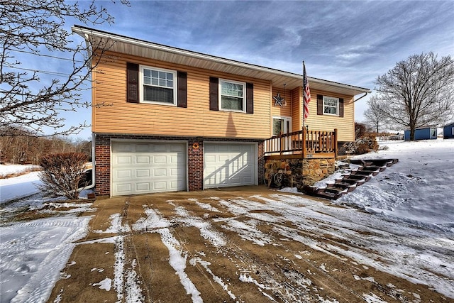
[[[265,140],[267,158],[336,158],[337,129],[294,131]]]

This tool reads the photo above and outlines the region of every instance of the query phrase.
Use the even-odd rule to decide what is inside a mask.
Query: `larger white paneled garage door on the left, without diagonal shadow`
[[[185,143],[111,145],[112,196],[187,189]]]

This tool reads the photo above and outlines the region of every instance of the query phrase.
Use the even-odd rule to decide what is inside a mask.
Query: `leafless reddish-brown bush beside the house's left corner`
[[[84,164],[88,158],[88,155],[83,153],[45,155],[40,160],[40,166],[43,167],[40,180],[43,184],[38,188],[54,197],[78,199],[79,184],[87,183],[85,182]]]

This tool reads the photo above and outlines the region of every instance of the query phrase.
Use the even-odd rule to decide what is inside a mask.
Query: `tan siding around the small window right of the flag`
[[[330,115],[317,115],[317,94],[324,96],[343,98],[343,117]],[[311,89],[311,102],[309,103],[309,117],[306,119],[306,126],[309,130],[314,131],[333,131],[338,129],[338,141],[355,140],[355,123],[354,123],[353,96],[342,94],[333,94]]]

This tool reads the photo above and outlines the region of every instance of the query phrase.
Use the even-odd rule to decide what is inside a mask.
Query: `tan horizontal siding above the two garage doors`
[[[97,133],[137,133],[161,136],[209,136],[268,138],[270,136],[270,83],[234,77],[191,67],[149,61],[140,57],[109,54],[116,60],[96,68],[92,131]],[[126,62],[187,72],[187,108],[126,102]],[[209,77],[254,84],[254,114],[210,111]],[[289,96],[290,97],[290,96]]]

